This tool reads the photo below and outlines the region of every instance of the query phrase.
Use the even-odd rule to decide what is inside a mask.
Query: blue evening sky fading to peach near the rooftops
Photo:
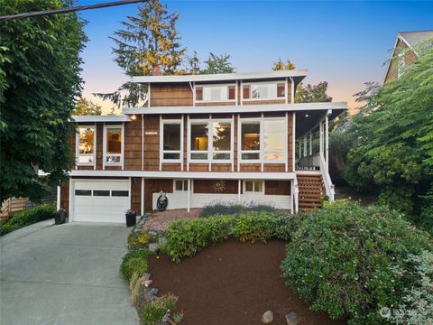
[[[89,5],[103,0],[79,0]],[[353,94],[364,82],[382,82],[384,63],[397,32],[433,29],[431,1],[163,1],[180,14],[178,30],[189,53],[201,60],[208,52],[228,53],[238,72],[269,71],[290,59],[308,69],[306,83],[326,80],[334,101],[355,107]],[[138,5],[90,10],[89,42],[82,58],[84,96],[111,92],[126,78],[111,53],[109,36]],[[104,113],[111,105],[103,105]],[[117,112],[120,113],[120,112]]]

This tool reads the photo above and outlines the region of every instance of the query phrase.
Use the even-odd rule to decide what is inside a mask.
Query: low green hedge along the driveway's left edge
[[[41,204],[32,209],[14,214],[12,218],[0,223],[0,236],[11,231],[32,225],[36,222],[54,218],[56,215],[56,203]]]

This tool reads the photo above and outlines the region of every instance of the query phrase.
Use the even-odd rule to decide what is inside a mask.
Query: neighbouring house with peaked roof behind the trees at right
[[[419,52],[433,46],[433,31],[399,32],[383,83],[398,79],[404,68],[419,59]]]

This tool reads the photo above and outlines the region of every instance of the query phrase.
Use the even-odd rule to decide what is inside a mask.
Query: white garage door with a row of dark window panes
[[[73,181],[71,221],[124,223],[129,181]]]

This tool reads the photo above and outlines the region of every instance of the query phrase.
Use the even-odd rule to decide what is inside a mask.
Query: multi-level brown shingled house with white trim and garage
[[[77,166],[58,193],[69,221],[124,222],[124,210],[271,202],[296,212],[334,199],[328,124],[346,103],[294,104],[307,70],[136,77],[149,107],[74,116]],[[312,138],[320,149],[313,153]]]

